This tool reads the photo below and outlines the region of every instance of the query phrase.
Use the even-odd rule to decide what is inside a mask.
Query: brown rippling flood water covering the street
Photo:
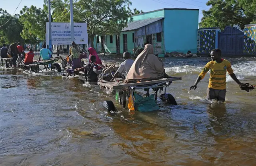
[[[102,57],[105,63],[122,62]],[[256,84],[256,58],[228,58],[241,82]],[[178,105],[150,113],[122,109],[98,86],[61,74],[0,68],[1,166],[254,166],[256,90],[227,76],[226,102],[206,100],[207,74],[189,90],[209,58],[164,59],[180,76],[169,88]],[[102,106],[112,100],[119,113]]]

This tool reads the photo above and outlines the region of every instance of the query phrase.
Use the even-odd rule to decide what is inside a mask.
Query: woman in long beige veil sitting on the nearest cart
[[[147,44],[132,64],[125,82],[158,80],[165,76],[168,75],[165,73],[163,62],[154,55],[153,46]]]

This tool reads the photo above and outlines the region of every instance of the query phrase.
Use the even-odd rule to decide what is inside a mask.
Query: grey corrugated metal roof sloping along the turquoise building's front
[[[126,28],[124,28],[122,31],[131,31],[131,30],[139,29],[140,27],[144,27],[150,23],[156,22],[163,18],[164,17],[158,17],[158,18],[149,18],[146,20],[133,21],[131,23],[128,23],[128,26]]]

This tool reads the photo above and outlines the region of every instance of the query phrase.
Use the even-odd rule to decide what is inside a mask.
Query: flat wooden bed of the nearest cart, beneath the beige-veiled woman
[[[113,88],[113,89],[119,89],[119,88],[126,88],[130,86],[143,86],[143,85],[150,85],[150,84],[157,84],[161,82],[171,82],[171,81],[177,81],[181,80],[181,77],[172,77],[172,78],[162,78],[160,80],[152,80],[152,81],[145,81],[145,82],[138,82],[138,83],[130,83],[126,84],[125,82],[122,82],[118,84],[115,81],[109,81],[109,82],[98,82],[98,85],[100,86],[106,86],[108,88]]]

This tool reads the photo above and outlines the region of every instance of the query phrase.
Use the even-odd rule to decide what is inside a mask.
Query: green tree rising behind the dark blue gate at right
[[[203,10],[200,27],[220,27],[256,23],[256,0],[209,0],[210,10]]]

